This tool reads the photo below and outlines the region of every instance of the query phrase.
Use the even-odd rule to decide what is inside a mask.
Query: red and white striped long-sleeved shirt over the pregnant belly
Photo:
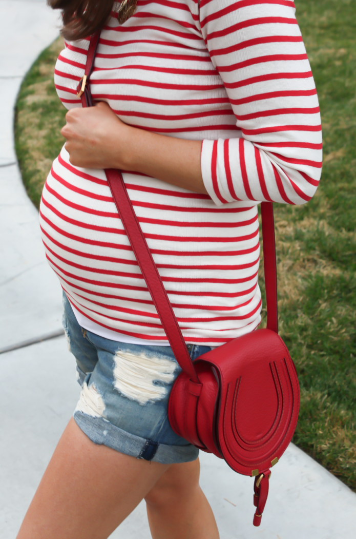
[[[114,5],[117,8],[118,4]],[[55,85],[67,108],[88,40],[67,43]],[[260,201],[303,204],[321,175],[314,79],[290,0],[138,0],[101,33],[93,98],[130,125],[203,140],[210,196],[123,174],[186,342],[219,345],[260,322]],[[62,149],[42,194],[49,264],[81,325],[167,343],[103,170]]]

